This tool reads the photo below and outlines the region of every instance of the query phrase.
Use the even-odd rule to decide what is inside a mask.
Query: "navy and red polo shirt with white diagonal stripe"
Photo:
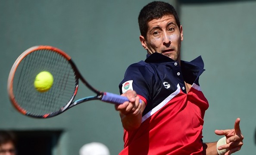
[[[119,155],[202,154],[203,117],[209,107],[199,85],[203,67],[201,56],[179,64],[153,53],[127,68],[120,93],[135,90],[146,108],[140,127],[124,130]],[[188,93],[184,81],[192,85]]]

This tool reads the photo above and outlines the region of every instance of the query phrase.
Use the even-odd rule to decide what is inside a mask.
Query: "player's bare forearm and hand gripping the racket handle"
[[[120,113],[122,125],[125,130],[135,130],[140,127],[142,112],[146,105],[143,101],[140,103],[140,98],[135,91],[128,90],[122,96],[126,96],[130,102],[116,105],[116,110]]]

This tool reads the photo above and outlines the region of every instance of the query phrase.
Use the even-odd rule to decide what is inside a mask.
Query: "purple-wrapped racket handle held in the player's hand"
[[[125,96],[120,96],[113,93],[104,92],[103,97],[101,99],[104,102],[114,103],[114,104],[123,104],[126,101],[129,101],[129,99]],[[141,99],[140,99],[141,103]]]

